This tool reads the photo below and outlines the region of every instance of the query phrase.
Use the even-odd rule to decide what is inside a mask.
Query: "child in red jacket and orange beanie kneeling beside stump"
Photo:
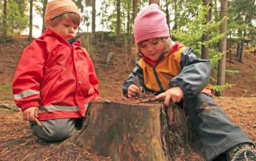
[[[78,128],[90,101],[98,99],[93,62],[76,36],[81,14],[71,0],[51,0],[47,29],[24,49],[13,81],[15,103],[32,132],[43,141],[61,141]],[[43,127],[38,127],[38,118]]]

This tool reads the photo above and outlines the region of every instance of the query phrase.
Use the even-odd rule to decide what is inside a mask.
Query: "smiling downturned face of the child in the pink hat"
[[[151,39],[139,44],[142,54],[149,59],[156,61],[160,58],[164,51],[164,44],[157,39]]]

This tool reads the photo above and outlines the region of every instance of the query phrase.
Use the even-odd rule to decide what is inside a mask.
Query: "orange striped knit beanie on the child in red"
[[[76,4],[71,0],[51,0],[47,3],[44,20],[52,20],[61,14],[74,12],[81,18],[81,13]]]

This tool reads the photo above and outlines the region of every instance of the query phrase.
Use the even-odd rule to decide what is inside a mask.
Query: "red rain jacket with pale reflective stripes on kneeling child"
[[[70,45],[49,28],[24,49],[13,81],[21,110],[38,106],[39,120],[85,116],[87,104],[98,99],[93,62],[77,41]]]

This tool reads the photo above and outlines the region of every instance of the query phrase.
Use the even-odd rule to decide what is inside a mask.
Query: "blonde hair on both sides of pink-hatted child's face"
[[[161,43],[164,45],[163,56],[167,56],[168,52],[172,49],[171,38],[163,37],[163,38],[157,38],[156,40],[158,43]],[[145,40],[145,41],[147,41],[147,40]],[[142,42],[145,42],[145,41],[142,41]],[[139,58],[142,58],[144,56],[143,53],[140,51],[140,44],[142,42],[140,42],[138,45],[135,43],[134,47],[132,48],[133,54],[137,55]]]

